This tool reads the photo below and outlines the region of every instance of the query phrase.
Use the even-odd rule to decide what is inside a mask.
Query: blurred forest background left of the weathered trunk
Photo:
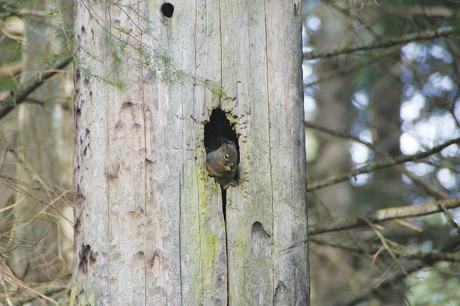
[[[71,27],[69,5],[48,0],[0,5],[5,115],[0,121],[0,303],[5,305],[67,299],[73,260],[72,67],[43,67],[66,49],[60,36]],[[53,70],[53,76],[46,74]],[[33,85],[31,78],[39,83]],[[19,84],[28,82],[34,91],[21,101]],[[16,104],[10,112],[4,107],[8,95]]]

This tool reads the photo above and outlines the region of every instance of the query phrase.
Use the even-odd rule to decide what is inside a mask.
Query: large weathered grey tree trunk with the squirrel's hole
[[[85,4],[75,3],[71,304],[308,305],[301,1],[177,2],[171,18],[163,1]],[[159,82],[132,57],[117,66],[117,29],[230,99]],[[91,62],[96,76],[125,89],[85,77],[88,54],[104,59]],[[239,135],[226,223],[205,168],[214,108]]]

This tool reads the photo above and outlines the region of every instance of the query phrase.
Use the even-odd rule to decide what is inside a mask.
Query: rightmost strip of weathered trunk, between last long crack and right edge
[[[266,3],[274,304],[309,301],[301,1]]]

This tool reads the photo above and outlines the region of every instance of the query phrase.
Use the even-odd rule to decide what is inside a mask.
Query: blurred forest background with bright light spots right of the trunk
[[[313,305],[460,302],[460,210],[438,205],[459,202],[459,8],[304,1]],[[428,203],[442,213],[421,217]],[[413,217],[367,215],[400,206]]]

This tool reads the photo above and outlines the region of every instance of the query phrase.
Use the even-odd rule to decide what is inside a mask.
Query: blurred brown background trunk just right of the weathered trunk
[[[321,35],[320,39],[313,36],[313,44],[318,50],[331,48],[337,41],[346,37],[348,25],[341,22],[330,10],[315,12],[321,16]],[[330,61],[318,61],[318,73],[320,76],[328,76],[334,74],[333,77],[324,78],[319,83],[318,90],[318,114],[316,122],[319,126],[326,127],[331,130],[348,132],[350,126],[350,106],[347,104],[347,97],[350,96],[351,82],[347,81],[347,76],[339,74],[340,65],[343,63],[342,58],[334,58]],[[349,86],[344,86],[348,84]],[[348,107],[347,107],[348,106]],[[320,136],[324,136],[321,134]],[[352,167],[350,155],[347,154],[350,144],[347,141],[341,141],[336,137],[327,137],[323,149],[318,153],[318,158],[309,168],[309,179],[314,181],[321,177],[343,173],[349,171]],[[344,153],[345,152],[345,153]],[[315,177],[314,177],[315,176]],[[346,216],[347,211],[350,211],[352,204],[352,190],[350,184],[341,183],[328,186],[327,188],[314,192],[317,203],[320,203],[320,216],[323,220],[314,220],[312,223],[324,223],[330,221],[332,217]],[[319,206],[319,205],[318,205]],[[323,207],[324,206],[324,207]],[[326,214],[324,213],[326,211]],[[311,217],[312,215],[310,215]],[[310,219],[311,221],[312,219]],[[312,267],[321,267],[320,269],[312,269],[312,292],[315,300],[320,303],[333,304],[337,299],[341,298],[339,294],[331,295],[331,292],[336,292],[337,288],[348,286],[347,277],[343,274],[346,271],[337,269],[336,263],[330,258],[324,256],[321,250],[312,252],[310,260]],[[328,251],[333,253],[333,256],[340,258],[340,262],[349,263],[351,260],[349,254],[341,249],[332,249]],[[317,273],[316,273],[317,271]]]

